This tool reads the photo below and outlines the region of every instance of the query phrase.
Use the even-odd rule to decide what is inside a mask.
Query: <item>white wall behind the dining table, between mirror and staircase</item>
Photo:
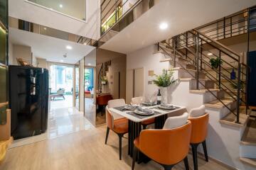
[[[147,97],[156,94],[159,89],[154,84],[148,84],[148,81],[154,77],[149,77],[149,70],[154,70],[154,74],[161,74],[162,69],[169,68],[169,62],[159,62],[163,55],[156,53],[156,45],[150,45],[140,50],[127,54],[127,70],[144,67],[144,96]],[[127,79],[127,81],[129,81]],[[129,99],[127,98],[127,101]]]

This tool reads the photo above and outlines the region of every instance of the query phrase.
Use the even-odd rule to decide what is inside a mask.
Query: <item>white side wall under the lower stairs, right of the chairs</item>
[[[246,125],[235,127],[219,122],[220,118],[228,113],[227,110],[227,108],[206,108],[206,112],[210,115],[206,140],[208,155],[237,169],[255,169],[240,162],[240,140]],[[203,153],[202,148],[201,152]]]

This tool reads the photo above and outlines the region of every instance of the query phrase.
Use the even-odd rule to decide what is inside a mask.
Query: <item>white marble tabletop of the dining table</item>
[[[174,105],[174,106],[176,106],[178,108],[176,108],[174,110],[161,110],[161,109],[157,109],[156,108],[156,107],[158,107],[158,105],[156,105],[156,106],[142,106],[142,108],[149,108],[152,111],[159,112],[159,114],[157,114],[157,115],[145,116],[145,118],[136,118],[135,116],[128,114],[129,112],[132,112],[132,111],[119,111],[119,110],[117,110],[115,108],[109,108],[109,110],[112,113],[116,113],[118,115],[122,115],[124,118],[132,120],[133,122],[139,123],[139,122],[142,122],[144,120],[149,120],[151,118],[156,118],[156,117],[161,116],[161,115],[166,115],[166,114],[170,114],[170,113],[176,113],[177,111],[181,111],[182,109],[186,108],[184,106],[177,106],[177,105]]]

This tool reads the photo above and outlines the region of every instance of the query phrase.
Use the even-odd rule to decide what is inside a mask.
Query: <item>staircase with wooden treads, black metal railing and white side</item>
[[[240,55],[198,30],[181,33],[157,46],[164,57],[160,62],[169,62],[180,80],[171,103],[183,102],[188,110],[204,104],[210,114],[210,156],[238,169],[255,169],[256,120],[247,106],[247,66]],[[212,68],[212,57],[223,64]],[[236,79],[230,79],[233,69]],[[235,91],[228,85],[236,87]],[[184,89],[188,89],[187,94]],[[178,101],[176,96],[181,95],[187,101]]]

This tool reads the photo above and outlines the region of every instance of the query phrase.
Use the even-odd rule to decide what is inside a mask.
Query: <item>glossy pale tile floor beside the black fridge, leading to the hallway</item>
[[[72,104],[72,101],[70,102]],[[67,102],[58,101],[58,104],[55,103],[55,101],[51,102],[50,113],[48,115],[48,130],[45,133],[15,140],[11,147],[28,145],[33,142],[52,139],[80,130],[93,128],[92,124],[84,118],[82,112],[79,112],[77,108],[65,107],[65,103]]]

